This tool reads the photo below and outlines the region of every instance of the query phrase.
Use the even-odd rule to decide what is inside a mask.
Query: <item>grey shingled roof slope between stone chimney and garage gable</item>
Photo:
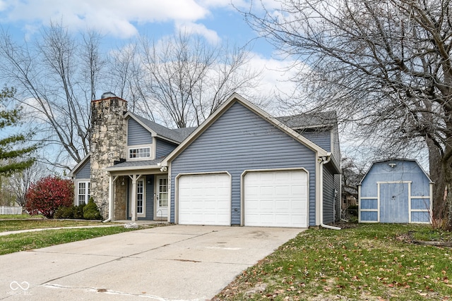
[[[146,118],[138,116],[134,113],[127,112],[125,118],[130,117],[133,118],[136,122],[140,123],[143,128],[148,130],[155,137],[162,138],[164,140],[168,140],[170,142],[174,142],[179,144],[184,141],[186,137],[190,135],[196,128],[184,128],[184,129],[176,129],[172,130],[163,125],[150,121]]]

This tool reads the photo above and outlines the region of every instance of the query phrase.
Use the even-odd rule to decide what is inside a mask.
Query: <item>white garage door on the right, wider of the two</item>
[[[307,227],[305,171],[253,171],[244,176],[245,226]]]

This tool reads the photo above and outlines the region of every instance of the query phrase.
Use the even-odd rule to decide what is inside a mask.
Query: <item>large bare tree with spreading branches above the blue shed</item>
[[[434,208],[448,188],[452,213],[452,18],[448,0],[281,0],[244,12],[296,57],[295,105],[336,109],[388,155],[428,147]],[[302,67],[302,68],[300,68]],[[314,102],[313,102],[314,101]],[[452,228],[452,214],[448,214]]]

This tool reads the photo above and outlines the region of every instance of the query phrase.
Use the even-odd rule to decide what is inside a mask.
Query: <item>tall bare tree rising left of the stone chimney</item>
[[[76,39],[52,23],[34,44],[18,44],[7,32],[0,39],[1,79],[16,87],[37,139],[63,155],[42,159],[63,168],[81,161],[89,152],[90,101],[105,64],[100,36],[91,32]]]

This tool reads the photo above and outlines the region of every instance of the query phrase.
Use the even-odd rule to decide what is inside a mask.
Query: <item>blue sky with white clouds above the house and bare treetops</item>
[[[262,0],[268,9],[275,0]],[[211,44],[242,47],[251,43],[251,68],[263,70],[257,94],[271,95],[276,87],[292,90],[279,72],[290,61],[275,59],[273,47],[246,24],[237,8],[247,11],[251,0],[0,0],[0,25],[13,37],[32,40],[51,21],[71,32],[95,30],[104,35],[106,47],[117,49],[146,35],[158,40],[179,30],[194,32]],[[253,2],[261,9],[260,2]],[[252,99],[250,99],[252,101]]]

